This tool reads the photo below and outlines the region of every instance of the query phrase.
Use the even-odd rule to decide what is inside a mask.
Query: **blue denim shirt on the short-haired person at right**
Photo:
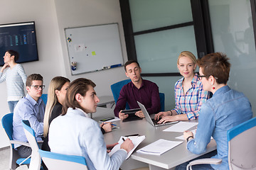
[[[189,140],[187,148],[194,154],[206,152],[213,136],[217,143],[217,152],[213,158],[222,159],[220,165],[211,165],[214,169],[228,169],[227,131],[252,118],[250,101],[241,92],[223,86],[213,97],[203,103],[198,118],[196,137]]]

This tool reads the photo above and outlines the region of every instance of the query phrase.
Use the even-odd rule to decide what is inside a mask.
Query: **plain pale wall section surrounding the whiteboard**
[[[58,31],[60,33],[60,42],[63,47],[63,58],[65,62],[65,74],[70,79],[85,77],[92,79],[97,85],[95,90],[98,96],[112,95],[110,85],[122,79],[127,79],[124,74],[124,67],[79,74],[71,76],[70,64],[68,60],[68,50],[65,40],[64,28],[94,26],[105,23],[118,23],[119,33],[122,44],[124,61],[127,61],[127,52],[124,41],[124,32],[122,28],[122,17],[118,0],[54,0],[56,15],[58,18]]]

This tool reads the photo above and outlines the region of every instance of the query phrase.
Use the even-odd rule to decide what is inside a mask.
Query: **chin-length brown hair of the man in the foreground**
[[[68,111],[68,108],[81,108],[78,101],[75,99],[76,94],[81,94],[85,96],[86,92],[89,90],[89,86],[95,87],[96,84],[90,79],[80,78],[75,79],[71,82],[68,87],[68,91],[65,96],[65,102],[63,104],[63,112],[61,115],[65,115]],[[83,108],[81,108],[83,110]]]

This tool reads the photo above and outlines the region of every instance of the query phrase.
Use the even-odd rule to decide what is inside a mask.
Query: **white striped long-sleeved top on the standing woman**
[[[4,73],[0,72],[0,83],[4,81],[7,86],[7,101],[18,101],[25,96],[26,73],[21,64],[8,67]]]

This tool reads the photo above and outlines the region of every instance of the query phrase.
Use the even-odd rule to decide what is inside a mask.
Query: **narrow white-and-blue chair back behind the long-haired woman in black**
[[[25,132],[26,138],[28,140],[29,145],[31,145],[32,153],[31,153],[31,163],[29,165],[29,169],[31,170],[39,170],[41,169],[41,157],[38,152],[38,142],[36,140],[35,131],[31,128],[28,120],[22,120],[23,130]]]

